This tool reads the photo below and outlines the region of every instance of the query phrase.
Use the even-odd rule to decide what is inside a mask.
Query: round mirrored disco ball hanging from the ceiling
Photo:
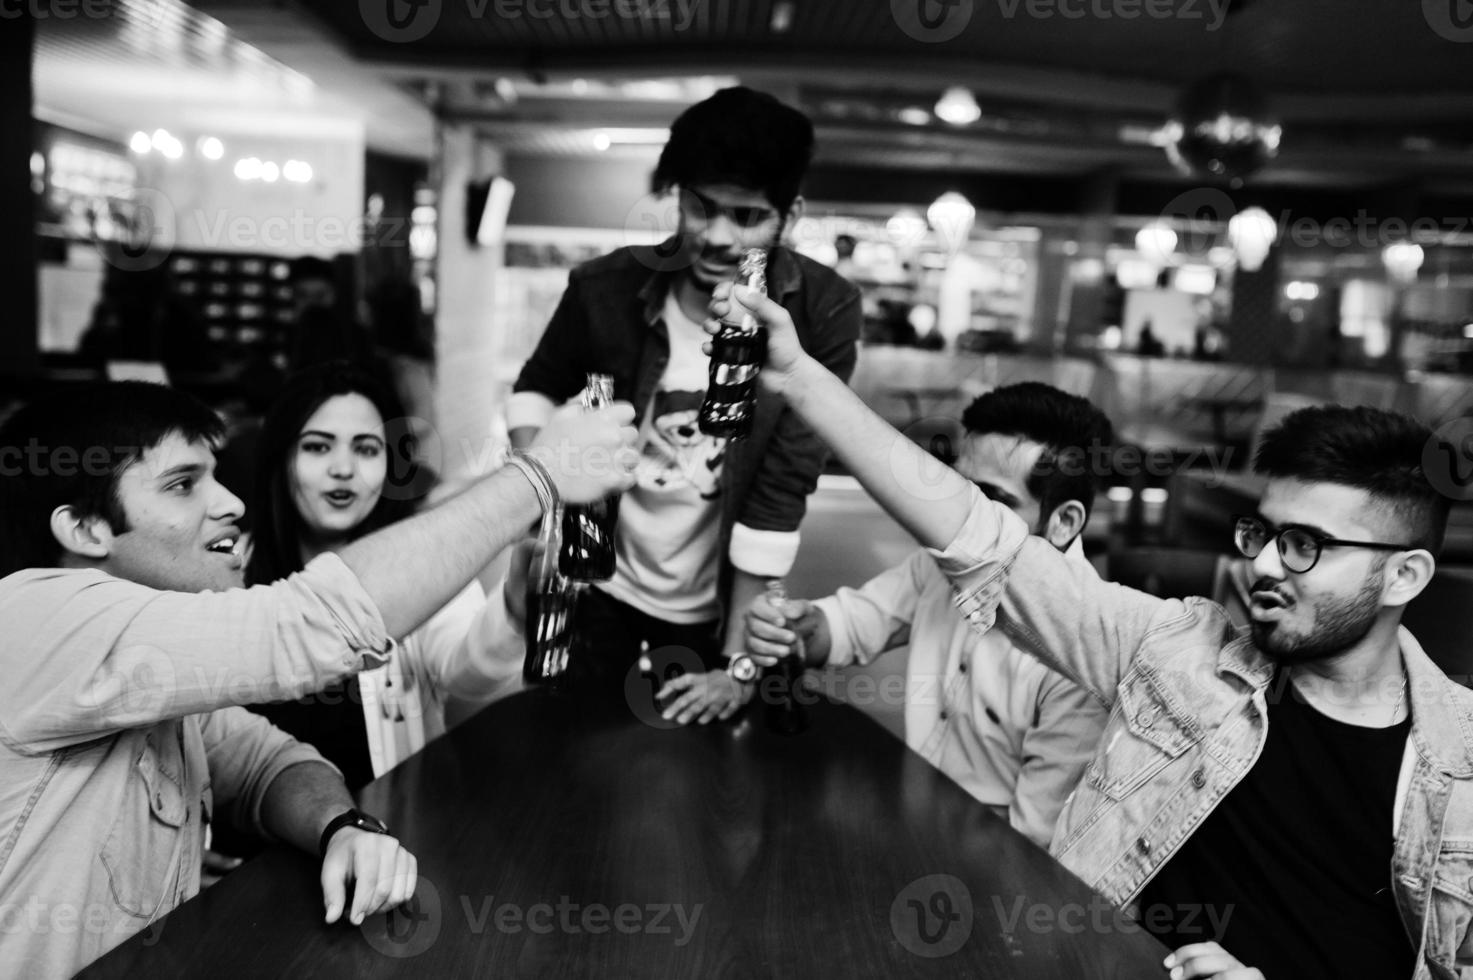
[[[1242,187],[1245,177],[1279,155],[1283,128],[1254,83],[1223,74],[1181,93],[1165,136],[1167,156],[1181,172]]]

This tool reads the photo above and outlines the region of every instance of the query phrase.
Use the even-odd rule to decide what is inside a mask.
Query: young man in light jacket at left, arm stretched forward
[[[320,852],[327,923],[408,899],[414,856],[314,749],[239,706],[383,663],[389,637],[555,494],[623,489],[627,469],[588,460],[630,447],[632,417],[561,413],[533,449],[546,461],[252,589],[239,588],[243,507],[215,480],[221,424],[203,405],[102,385],[0,426],[6,973],[71,976],[191,897],[212,818]]]

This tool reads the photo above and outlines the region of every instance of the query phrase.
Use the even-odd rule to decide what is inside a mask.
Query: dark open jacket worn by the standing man
[[[670,267],[661,256],[672,255],[672,246],[616,249],[574,268],[516,391],[561,402],[582,391],[589,371],[602,371],[613,374],[616,398],[648,411],[670,361],[663,309],[673,273],[661,271]],[[862,321],[859,289],[825,265],[775,248],[767,295],[792,315],[803,348],[848,380]],[[738,523],[795,535],[826,457],[822,441],[781,398],[759,395],[751,435],[729,444],[722,467],[720,554],[728,554]],[[726,595],[728,582],[723,561],[719,595]]]

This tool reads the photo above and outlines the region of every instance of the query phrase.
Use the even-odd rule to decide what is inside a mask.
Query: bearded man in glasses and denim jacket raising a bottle
[[[1112,701],[1052,850],[1177,945],[1173,980],[1473,976],[1473,691],[1399,625],[1449,507],[1426,427],[1324,407],[1267,436],[1240,632],[1071,567],[741,301],[769,327],[763,383],[935,548],[963,615]]]

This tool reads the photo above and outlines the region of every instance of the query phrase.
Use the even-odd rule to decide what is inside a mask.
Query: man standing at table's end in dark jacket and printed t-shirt
[[[854,370],[859,289],[778,245],[803,214],[812,150],[812,122],[751,88],[723,88],[686,109],[654,171],[657,192],[679,195],[676,236],[574,268],[517,379],[507,405],[513,445],[529,441],[589,371],[613,374],[616,396],[641,419],[642,460],[620,501],[614,578],[579,603],[577,634],[600,638],[597,660],[586,647],[572,657],[579,685],[622,696],[644,641],[694,650],[711,669],[701,684],[739,696],[716,669],[742,637],[738,617],[719,632],[722,610],[745,609],[766,579],[787,575],[826,454],[772,396],[757,398],[745,439],[697,429],[709,367],[701,324],[711,289],[735,277],[742,251],[764,248],[767,295],[788,311],[800,343],[841,379]]]

